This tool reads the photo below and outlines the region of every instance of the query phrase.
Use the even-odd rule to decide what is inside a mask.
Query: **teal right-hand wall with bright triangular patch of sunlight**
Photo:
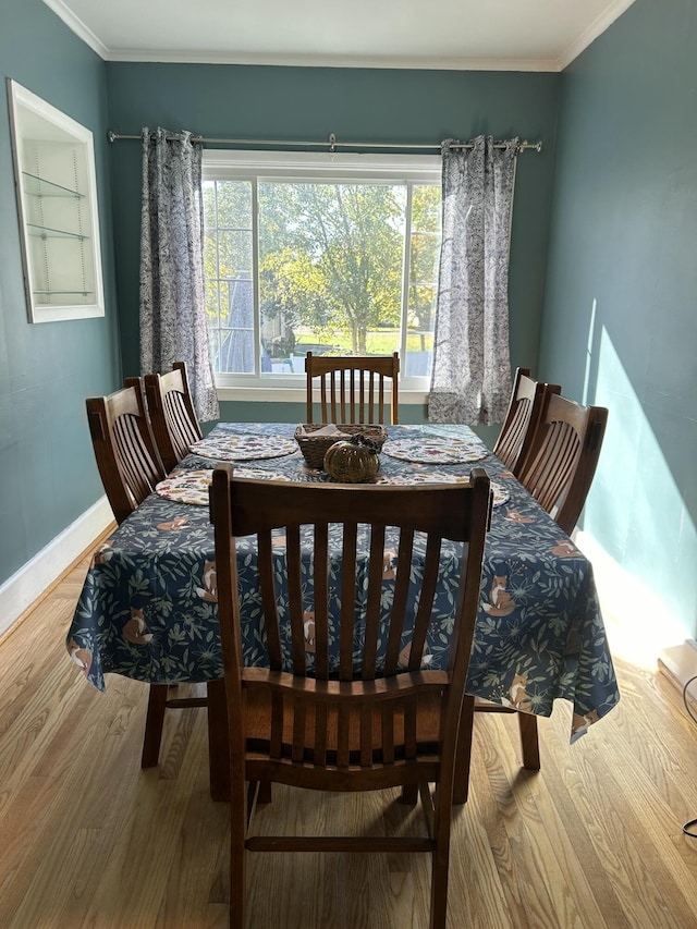
[[[697,4],[563,73],[540,372],[610,408],[585,528],[697,634]]]

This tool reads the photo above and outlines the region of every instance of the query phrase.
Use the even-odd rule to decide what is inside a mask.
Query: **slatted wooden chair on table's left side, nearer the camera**
[[[87,400],[87,420],[105,491],[121,524],[150,494],[166,472],[145,410],[139,378],[109,396]],[[205,697],[170,699],[167,684],[150,684],[140,767],[155,768],[166,709],[207,706]]]

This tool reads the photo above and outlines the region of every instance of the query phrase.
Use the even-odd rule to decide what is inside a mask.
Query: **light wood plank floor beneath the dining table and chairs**
[[[207,787],[201,711],[170,711],[140,771],[147,687],[106,694],[63,638],[82,563],[0,643],[0,927],[213,929],[228,907],[228,807]],[[697,726],[667,679],[617,660],[622,701],[576,745],[570,708],[519,768],[512,717],[476,720],[470,799],[454,824],[449,927],[697,926]],[[259,829],[412,828],[381,795],[278,789]],[[426,926],[427,856],[249,855],[249,927]]]

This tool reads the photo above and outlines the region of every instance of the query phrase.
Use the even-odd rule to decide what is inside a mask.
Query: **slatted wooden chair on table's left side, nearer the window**
[[[204,438],[194,410],[185,362],[174,362],[164,375],[145,376],[145,394],[164,469],[173,470],[192,442]]]

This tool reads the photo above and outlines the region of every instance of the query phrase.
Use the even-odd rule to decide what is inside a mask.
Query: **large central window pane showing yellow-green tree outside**
[[[400,345],[406,188],[259,183],[261,340],[294,356],[386,354]]]

